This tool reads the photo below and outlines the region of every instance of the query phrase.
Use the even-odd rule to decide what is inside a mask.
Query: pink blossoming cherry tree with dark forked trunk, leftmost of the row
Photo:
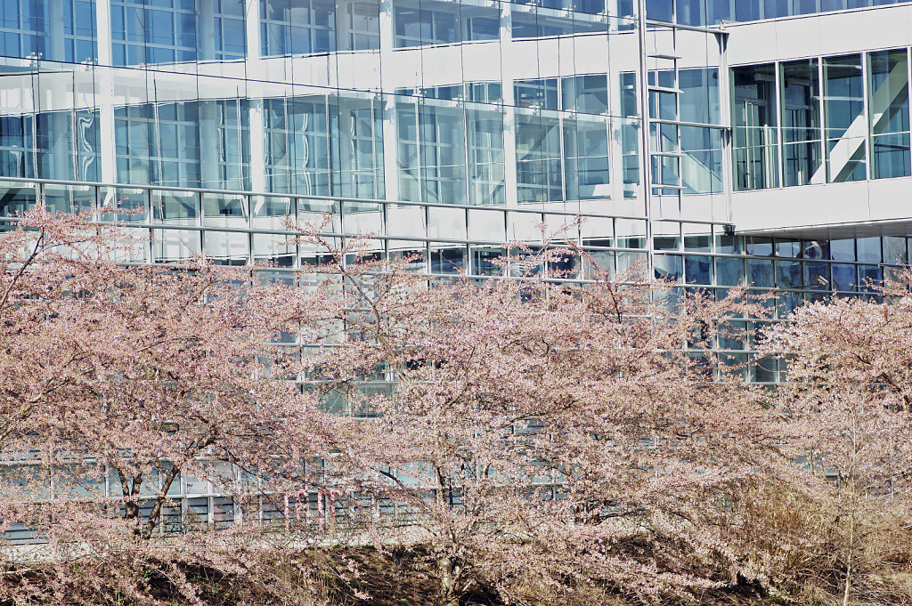
[[[345,435],[346,419],[300,392],[279,343],[326,336],[338,311],[325,289],[202,259],[123,263],[135,245],[117,226],[40,209],[0,238],[0,519],[61,566],[87,553],[167,562],[157,550],[173,540],[150,539],[164,520],[192,529],[172,498],[181,476],[232,497],[236,522],[254,519],[323,481],[304,462]],[[181,549],[228,566],[227,537]],[[123,586],[141,575],[120,572]]]

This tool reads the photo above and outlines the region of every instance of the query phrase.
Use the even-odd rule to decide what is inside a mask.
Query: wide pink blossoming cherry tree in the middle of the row
[[[760,305],[669,308],[661,284],[572,246],[515,245],[513,279],[430,284],[408,259],[347,266],[352,246],[328,264],[346,338],[306,371],[362,417],[358,488],[401,516],[399,540],[430,544],[441,604],[519,578],[658,600],[751,574],[708,520],[781,469],[762,406],[714,354],[724,320]],[[584,263],[588,280],[565,280]]]

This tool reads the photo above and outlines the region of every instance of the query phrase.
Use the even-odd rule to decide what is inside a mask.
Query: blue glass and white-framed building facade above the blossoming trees
[[[376,258],[483,278],[582,217],[561,238],[602,268],[644,263],[671,301],[747,284],[772,322],[874,296],[912,255],[912,3],[0,5],[0,229],[44,204],[125,221],[148,241],[125,262],[286,280],[320,254],[287,218],[328,215]],[[720,346],[747,361],[761,324],[731,326],[745,340]],[[233,519],[207,483],[172,489]]]

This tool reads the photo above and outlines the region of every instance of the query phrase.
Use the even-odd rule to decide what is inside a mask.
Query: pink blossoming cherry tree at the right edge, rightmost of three
[[[912,276],[867,299],[805,305],[764,349],[787,364],[777,390],[783,452],[820,479],[843,604],[895,598],[909,548]],[[890,595],[891,592],[894,595]]]

